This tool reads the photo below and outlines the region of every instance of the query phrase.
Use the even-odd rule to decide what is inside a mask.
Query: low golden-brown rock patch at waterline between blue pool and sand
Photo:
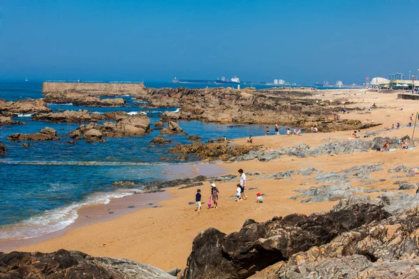
[[[175,147],[169,149],[169,152],[176,154],[191,154],[194,153],[197,158],[205,160],[228,160],[250,151],[257,151],[262,149],[261,145],[242,144],[229,146],[226,142],[214,144],[202,144],[201,142],[193,142],[192,144],[177,144]]]

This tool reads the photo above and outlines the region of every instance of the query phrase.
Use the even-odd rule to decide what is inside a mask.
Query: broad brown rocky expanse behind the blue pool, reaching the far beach
[[[252,91],[179,87],[146,89],[137,98],[147,101],[142,105],[144,107],[180,107],[179,112],[161,114],[163,121],[180,119],[221,123],[278,123],[299,126],[303,130],[317,126],[322,132],[379,125],[351,119],[330,121],[328,116],[332,117],[343,109],[340,101],[316,103],[316,99],[307,98],[311,95],[312,90],[309,89]]]

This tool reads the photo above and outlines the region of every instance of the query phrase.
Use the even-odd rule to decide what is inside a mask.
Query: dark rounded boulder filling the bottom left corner
[[[148,264],[128,259],[91,257],[78,251],[0,252],[0,278],[175,279]]]

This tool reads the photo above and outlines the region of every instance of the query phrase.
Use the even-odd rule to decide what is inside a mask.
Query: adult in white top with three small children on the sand
[[[243,169],[238,170],[240,174],[240,183],[237,183],[237,188],[235,192],[235,201],[240,202],[244,199],[247,199],[247,195],[244,194],[244,189],[246,188],[246,174],[244,174]],[[218,207],[218,199],[219,199],[219,188],[216,187],[214,182],[210,182],[211,186],[211,194],[210,194],[210,200],[208,201],[208,209],[216,209]],[[195,196],[195,202],[196,202],[196,209],[195,211],[200,212],[202,204],[201,204],[201,190],[196,190],[196,196]],[[256,202],[261,203],[263,202],[263,197],[260,195],[260,193],[256,194]]]

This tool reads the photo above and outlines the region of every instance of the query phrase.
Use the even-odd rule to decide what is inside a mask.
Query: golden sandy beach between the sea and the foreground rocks
[[[318,91],[318,95],[312,97],[319,100],[335,100],[345,98],[353,102],[346,105],[351,107],[365,107],[365,110],[349,111],[348,114],[339,114],[341,119],[356,119],[365,123],[382,123],[383,125],[368,130],[383,129],[384,126],[397,125],[400,123],[406,126],[409,123],[409,116],[416,115],[418,103],[412,100],[397,99],[397,93],[377,93],[365,89],[326,90]],[[376,103],[376,108],[368,110]],[[403,110],[399,110],[403,108]],[[333,115],[328,116],[333,120]],[[320,131],[321,132],[321,131]],[[419,131],[416,131],[418,133]],[[365,130],[361,131],[361,135]],[[380,137],[403,137],[412,136],[413,127],[385,130]],[[311,147],[318,146],[331,140],[348,140],[351,131],[336,133],[306,133],[302,135],[270,135],[254,137],[253,144],[263,144],[267,149],[280,149],[282,146],[295,146],[305,143]],[[375,137],[375,136],[374,136]],[[362,138],[372,140],[372,137]],[[237,144],[245,144],[245,139],[234,140]],[[383,163],[383,171],[374,172],[374,179],[385,179],[372,185],[364,185],[362,181],[351,182],[351,187],[363,186],[364,188],[379,188],[386,191],[395,191],[397,187],[392,185],[396,179],[394,174],[388,173],[389,167],[404,164],[408,167],[419,165],[416,158],[419,155],[419,148],[413,150],[397,150],[392,152],[369,151],[367,153],[351,153],[339,156],[319,156],[310,158],[297,158],[295,156],[284,157],[270,162],[256,160],[219,163],[219,167],[226,169],[230,174],[236,174],[237,169],[244,169],[244,172],[263,172],[271,174],[291,169],[302,169],[315,167],[323,172],[338,172],[359,165],[372,165]],[[235,184],[237,181],[219,182],[220,190],[219,208],[207,209],[203,207],[201,213],[194,211],[196,190],[200,188],[203,195],[203,204],[207,203],[210,196],[210,184],[196,186],[193,188],[167,188],[164,195],[168,198],[160,198],[156,206],[140,206],[133,212],[122,212],[113,220],[105,220],[99,223],[91,223],[74,227],[60,236],[26,246],[22,243],[20,251],[52,252],[60,248],[66,250],[80,250],[93,256],[121,257],[143,262],[167,270],[175,267],[186,266],[186,259],[191,252],[193,238],[198,232],[209,227],[215,227],[221,232],[230,233],[239,230],[244,221],[253,219],[258,222],[269,220],[274,216],[286,216],[290,213],[310,214],[316,211],[330,210],[334,202],[313,202],[302,203],[301,199],[289,199],[298,193],[295,190],[308,189],[316,184],[310,176],[295,175],[291,179],[260,179],[259,176],[248,176],[247,196],[249,199],[234,202]],[[238,179],[238,176],[237,176]],[[409,182],[417,181],[417,177],[404,178]],[[250,190],[249,188],[255,188]],[[414,193],[416,189],[404,190],[406,193]],[[257,204],[256,193],[264,194],[263,204]],[[362,193],[360,195],[371,195],[376,197],[380,192]],[[132,204],[119,202],[117,208],[126,209]],[[86,214],[80,214],[84,216]]]

